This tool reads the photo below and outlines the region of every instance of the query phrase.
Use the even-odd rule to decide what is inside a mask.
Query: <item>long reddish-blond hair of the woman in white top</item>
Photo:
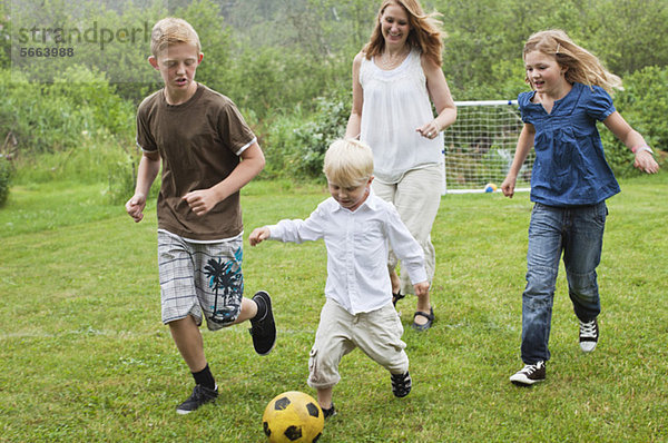
[[[410,48],[418,48],[420,51],[431,61],[438,66],[443,65],[443,31],[441,29],[442,23],[436,19],[441,13],[432,12],[424,13],[424,10],[418,2],[418,0],[384,0],[379,9],[376,17],[376,24],[371,33],[369,42],[362,49],[362,52],[366,55],[366,58],[371,60],[372,57],[381,55],[385,49],[385,39],[383,39],[382,22],[383,13],[385,8],[390,4],[397,4],[402,7],[409,16],[409,26],[411,30],[406,45]]]

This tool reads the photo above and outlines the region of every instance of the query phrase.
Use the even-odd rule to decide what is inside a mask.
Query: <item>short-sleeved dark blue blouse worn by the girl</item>
[[[615,112],[602,88],[573,83],[548,114],[533,104],[534,91],[518,97],[522,121],[536,128],[536,161],[531,174],[531,200],[548,206],[600,203],[619,193],[619,184],[606,161],[596,120]]]

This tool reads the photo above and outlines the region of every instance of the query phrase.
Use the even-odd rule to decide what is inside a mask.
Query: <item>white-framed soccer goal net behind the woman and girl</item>
[[[523,126],[517,101],[455,101],[455,105],[456,121],[443,132],[443,194],[484,193],[488,184],[500,187]],[[531,150],[518,175],[515,190],[529,190],[533,159]]]

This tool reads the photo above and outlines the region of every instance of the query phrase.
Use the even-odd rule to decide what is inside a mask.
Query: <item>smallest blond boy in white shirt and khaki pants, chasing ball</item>
[[[360,347],[391,373],[397,397],[411,392],[403,326],[392,304],[387,247],[405,264],[415,294],[429,292],[424,255],[392,204],[371,191],[373,155],[356,140],[337,140],[325,154],[330,194],[305,220],[281,220],[253,230],[265,239],[303,243],[323,238],[327,248],[326,302],[308,361],[308,385],[317,390],[325,417],[336,413],[332,391],[341,358]]]

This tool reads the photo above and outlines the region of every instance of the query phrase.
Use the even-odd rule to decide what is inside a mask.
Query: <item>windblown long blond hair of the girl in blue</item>
[[[576,45],[568,35],[560,29],[550,29],[533,33],[524,43],[522,57],[529,52],[540,51],[552,56],[561,67],[568,68],[566,80],[570,83],[579,82],[587,86],[600,86],[608,92],[621,89],[621,79],[603,68],[599,59],[587,49]],[[529,85],[529,76],[524,78]]]

